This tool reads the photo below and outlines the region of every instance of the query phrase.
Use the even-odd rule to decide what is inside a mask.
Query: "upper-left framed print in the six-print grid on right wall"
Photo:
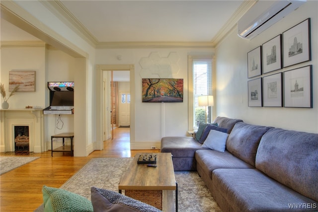
[[[247,78],[262,74],[262,47],[259,46],[247,53]]]

